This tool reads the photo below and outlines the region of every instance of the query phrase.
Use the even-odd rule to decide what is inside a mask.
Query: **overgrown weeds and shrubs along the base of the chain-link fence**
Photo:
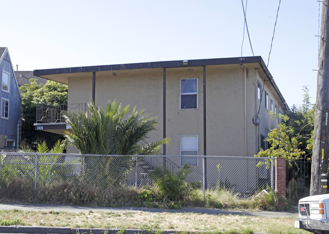
[[[162,172],[163,173],[163,172]],[[117,186],[115,189],[101,189],[79,181],[33,186],[24,178],[14,177],[7,186],[0,189],[4,202],[47,203],[104,207],[148,207],[181,209],[182,207],[210,207],[217,209],[292,209],[287,200],[279,200],[270,187],[266,192],[256,192],[248,199],[240,198],[238,193],[227,188],[203,190],[199,183],[186,183],[179,176],[168,172],[159,178],[154,186],[135,187]],[[188,171],[184,172],[184,176]],[[11,186],[15,185],[15,186]],[[22,191],[16,192],[17,188]],[[19,195],[24,194],[24,195]],[[34,195],[35,194],[35,195]],[[283,204],[284,206],[279,206]]]

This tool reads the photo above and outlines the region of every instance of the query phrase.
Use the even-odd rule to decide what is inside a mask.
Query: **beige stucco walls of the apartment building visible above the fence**
[[[203,154],[202,69],[166,69],[166,132],[167,137],[171,138],[166,147],[168,155],[180,154],[181,135],[197,135],[198,154]],[[158,116],[157,131],[151,132],[149,141],[160,140],[163,135],[162,71],[162,68],[156,68],[97,72],[96,105],[105,108],[109,100],[116,99],[124,105],[131,104],[131,109],[136,105],[137,109],[145,109],[146,113]],[[180,109],[180,80],[195,78],[198,80],[198,108]],[[257,81],[263,84],[261,75],[252,66],[246,70],[245,81],[243,67],[239,64],[206,67],[208,155],[244,156],[246,141],[246,155],[253,157],[258,152],[259,134],[267,136],[268,130],[277,125],[278,118],[270,119],[263,102],[259,113],[260,126],[252,123],[259,105]],[[91,72],[69,77],[68,84],[68,103],[87,103],[91,100]],[[265,82],[265,90],[279,106],[278,96],[269,82]]]

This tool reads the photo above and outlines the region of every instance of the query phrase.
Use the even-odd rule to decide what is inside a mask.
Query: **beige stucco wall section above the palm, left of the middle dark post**
[[[92,73],[89,75],[69,79],[68,103],[91,101]],[[162,69],[115,71],[115,75],[113,72],[98,72],[95,90],[95,103],[103,109],[115,99],[124,106],[130,104],[131,111],[136,106],[137,110],[144,109],[145,114],[157,116],[158,131],[152,131],[149,137],[150,141],[162,139]]]

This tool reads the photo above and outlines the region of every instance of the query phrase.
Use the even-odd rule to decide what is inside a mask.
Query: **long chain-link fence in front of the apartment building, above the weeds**
[[[42,192],[51,196],[52,187],[60,184],[67,186],[63,192],[79,184],[80,189],[97,190],[100,194],[122,186],[140,188],[153,185],[150,173],[155,168],[176,175],[183,163],[192,169],[185,181],[193,182],[203,191],[225,188],[249,197],[268,186],[274,189],[273,159],[1,152],[0,196],[28,201]]]

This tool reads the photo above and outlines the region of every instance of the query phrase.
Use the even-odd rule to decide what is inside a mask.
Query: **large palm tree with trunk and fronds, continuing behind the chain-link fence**
[[[156,130],[156,117],[144,114],[144,110],[133,109],[129,105],[122,107],[114,100],[106,110],[89,103],[89,112],[71,112],[64,116],[72,127],[72,132],[65,132],[67,142],[83,154],[112,155],[110,157],[88,156],[85,159],[85,173],[97,178],[101,186],[122,184],[134,166],[134,157],[113,155],[157,154],[161,144],[168,139],[146,143],[148,134]],[[86,177],[87,178],[87,177]]]

